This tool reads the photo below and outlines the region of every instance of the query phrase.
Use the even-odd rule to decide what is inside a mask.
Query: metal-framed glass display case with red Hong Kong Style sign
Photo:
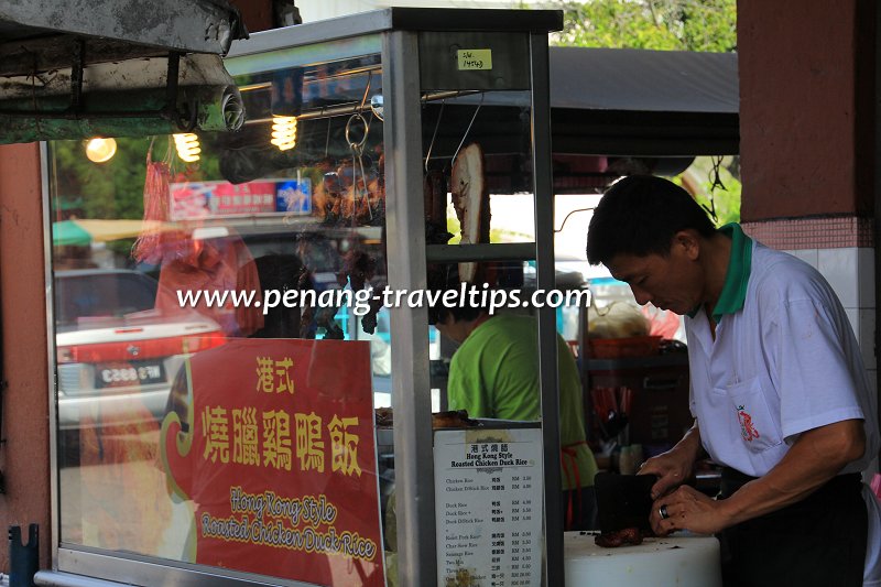
[[[77,162],[77,144],[50,145],[59,570],[563,584],[555,309],[532,308],[541,417],[503,426],[530,447],[531,483],[479,491],[525,485],[534,509],[511,520],[492,502],[479,526],[492,536],[470,546],[491,556],[468,567],[443,554],[435,460],[459,448],[434,432],[450,425],[433,417],[426,297],[555,286],[547,33],[561,26],[558,11],[392,8],[253,34],[226,58],[242,130],[119,139],[142,204],[111,167]],[[493,224],[513,194],[533,198],[524,233]],[[515,454],[492,430],[464,442]],[[530,540],[511,535],[520,517],[537,520]]]

